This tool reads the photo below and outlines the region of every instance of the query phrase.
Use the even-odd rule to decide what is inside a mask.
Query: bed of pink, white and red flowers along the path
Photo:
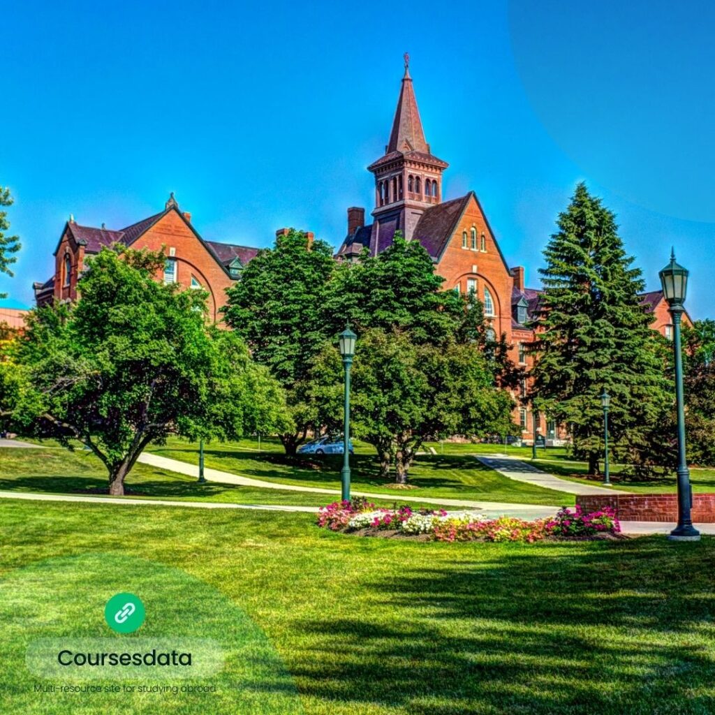
[[[551,519],[523,521],[502,516],[484,519],[471,512],[413,510],[409,506],[375,508],[364,498],[334,502],[320,508],[317,525],[331,531],[360,532],[365,536],[415,536],[434,541],[521,541],[545,538],[588,539],[617,536],[621,527],[612,508],[586,513],[576,506],[563,508]]]

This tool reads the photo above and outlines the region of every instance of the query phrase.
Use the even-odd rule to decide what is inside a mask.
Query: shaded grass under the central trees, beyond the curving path
[[[322,488],[340,488],[342,455],[297,455],[287,458],[275,443],[262,451],[252,449],[255,443],[212,443],[204,449],[207,467],[246,477],[282,484],[296,484]],[[149,446],[149,451],[197,464],[198,445],[184,440],[170,439],[166,445]],[[359,491],[400,495],[389,482],[378,475],[378,463],[372,448],[355,445],[351,459],[352,488]],[[546,505],[573,504],[573,496],[550,489],[516,482],[486,468],[470,454],[420,455],[410,469],[410,484],[415,490],[405,492],[410,497],[472,499]]]

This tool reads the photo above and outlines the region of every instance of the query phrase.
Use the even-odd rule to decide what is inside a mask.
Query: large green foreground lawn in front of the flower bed
[[[0,544],[3,713],[280,715],[293,686],[306,715],[715,711],[711,538],[450,545],[307,515],[0,501]],[[29,641],[107,636],[119,588],[147,603],[147,635],[223,638],[215,703],[32,693]]]

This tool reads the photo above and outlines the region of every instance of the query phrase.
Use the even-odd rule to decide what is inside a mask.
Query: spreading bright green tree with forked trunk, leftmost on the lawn
[[[109,493],[167,435],[236,438],[276,430],[283,398],[240,336],[208,325],[202,291],[154,280],[162,252],[102,250],[76,305],[35,310],[15,357],[24,385],[14,419],[92,449]]]

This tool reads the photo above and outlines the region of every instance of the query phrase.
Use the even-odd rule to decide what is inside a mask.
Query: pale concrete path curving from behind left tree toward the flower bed
[[[195,477],[199,468],[197,465],[182,462],[177,459],[162,457],[157,454],[144,452],[137,460],[142,464],[149,464],[152,467],[166,469],[179,474],[186,474]],[[335,499],[336,495],[340,495],[337,489],[325,489],[322,487],[303,487],[297,484],[280,484],[276,482],[267,482],[261,479],[252,479],[250,477],[242,477],[229,472],[222,472],[217,469],[204,469],[204,476],[207,480],[220,484],[235,484],[239,486],[255,487],[259,489],[280,489],[287,491],[310,492],[314,494],[327,494]],[[437,506],[456,506],[459,508],[478,509],[485,516],[516,516],[517,518],[538,519],[546,516],[553,516],[559,509],[559,506],[540,506],[536,504],[511,504],[498,501],[472,501],[469,499],[439,499],[428,498],[421,496],[408,495],[403,491],[396,490],[394,494],[380,494],[373,492],[351,491],[353,496],[364,496],[368,499],[383,499],[385,501],[417,501],[423,504],[435,504]]]

